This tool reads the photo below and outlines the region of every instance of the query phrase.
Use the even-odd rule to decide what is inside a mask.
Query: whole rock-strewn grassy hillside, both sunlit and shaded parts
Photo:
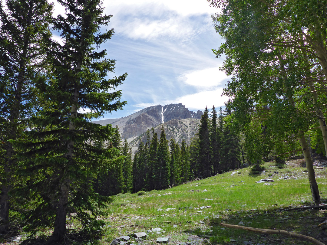
[[[109,206],[111,214],[104,218],[111,227],[106,228],[100,244],[156,227],[165,233],[148,233],[142,244],[154,244],[157,237],[170,237],[170,244],[185,243],[191,235],[199,236],[203,240],[198,241],[200,244],[310,244],[289,237],[262,236],[219,226],[219,222],[238,224],[240,221],[245,226],[289,230],[326,243],[326,226],[318,227],[326,220],[326,210],[287,211],[289,207],[311,203],[302,162],[303,159],[289,161],[284,169],[270,162],[264,165],[265,172],[258,175],[245,168],[234,171],[233,175],[227,172],[140,196],[118,194]],[[315,171],[321,198],[326,202],[327,170],[316,168]],[[255,183],[264,178],[274,182]]]

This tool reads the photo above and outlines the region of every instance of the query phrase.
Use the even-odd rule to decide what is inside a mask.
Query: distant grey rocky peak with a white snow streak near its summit
[[[131,142],[133,139],[145,133],[146,130],[172,119],[201,119],[201,116],[202,112],[200,110],[197,113],[189,111],[180,103],[165,106],[150,106],[127,117],[94,121],[93,123],[101,125],[112,124],[112,126],[118,125],[122,139],[126,138],[128,142]]]

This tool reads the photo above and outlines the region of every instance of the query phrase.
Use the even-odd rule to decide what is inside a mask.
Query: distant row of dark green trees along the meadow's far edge
[[[245,166],[252,166],[255,173],[263,161],[275,159],[277,164],[283,164],[290,154],[281,152],[301,154],[296,150],[300,145],[294,135],[272,138],[265,125],[253,122],[240,129],[229,102],[224,111],[220,107],[219,113],[214,106],[210,112],[205,108],[198,133],[189,146],[184,140],[181,144],[173,137],[167,140],[163,127],[159,139],[153,129],[148,130],[146,141],[140,140],[133,160],[127,140],[121,145],[119,129],[115,129],[113,146],[120,149],[124,160],[105,176],[98,176],[96,188],[103,195],[165,189]],[[319,140],[311,140],[313,153],[322,152]]]

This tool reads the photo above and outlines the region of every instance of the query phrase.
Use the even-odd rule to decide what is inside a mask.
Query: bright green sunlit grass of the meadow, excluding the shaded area
[[[190,235],[193,231],[194,234],[203,233],[203,236],[210,233],[208,236],[211,237],[211,243],[228,243],[231,236],[240,236],[238,234],[242,231],[221,230],[220,226],[210,226],[210,222],[217,217],[218,220],[227,217],[231,219],[235,213],[246,216],[253,209],[264,212],[270,208],[275,210],[312,202],[305,168],[285,166],[284,169],[278,169],[272,166],[273,163],[266,163],[265,173],[258,175],[253,175],[249,168],[245,168],[234,175],[227,172],[166,190],[148,191],[140,196],[119,194],[109,205],[111,216],[104,217],[112,225],[109,228],[112,230],[110,237],[115,238],[114,234],[119,237],[119,234],[146,232],[160,227],[165,231],[164,234],[148,233],[146,239],[168,236],[176,241],[186,241],[185,234]],[[316,169],[316,175],[319,174],[322,175],[317,178],[319,192],[321,198],[326,199],[326,171]],[[283,178],[286,175],[289,176],[288,179]],[[255,183],[265,178],[273,179],[274,182],[269,182],[269,185]],[[202,206],[205,208],[201,209]],[[163,210],[157,211],[159,208]],[[170,210],[166,210],[167,208]],[[271,225],[269,219],[256,219],[257,222],[247,219],[251,218],[246,218],[245,221],[251,222],[252,227],[263,228],[269,222]],[[200,224],[200,221],[206,224]],[[239,222],[237,219],[234,221]],[[121,227],[122,225],[125,226]],[[108,239],[104,238],[103,242],[105,241],[108,242]]]

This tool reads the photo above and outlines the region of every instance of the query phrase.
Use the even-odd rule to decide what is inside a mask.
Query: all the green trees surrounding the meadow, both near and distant
[[[65,17],[46,0],[0,3],[1,234],[22,229],[27,244],[89,238],[113,195],[248,166],[255,174],[294,155],[321,203],[313,156],[327,151],[327,1],[208,0],[220,10],[212,19],[224,42],[212,51],[225,56],[231,99],[205,108],[190,145],[148,130],[134,156],[117,126],[92,123],[127,104],[117,90],[127,73],[108,78],[116,60],[99,49],[112,15],[100,0],[58,2]],[[77,231],[67,228],[74,222]]]

